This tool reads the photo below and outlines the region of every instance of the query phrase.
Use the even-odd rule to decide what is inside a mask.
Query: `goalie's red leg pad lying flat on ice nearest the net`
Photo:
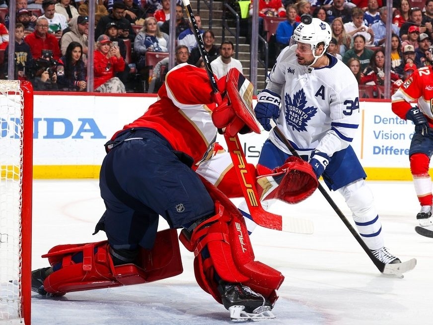
[[[72,257],[82,254],[82,262]],[[152,250],[141,249],[134,264],[114,266],[107,241],[98,243],[59,245],[47,257],[53,266],[62,268],[44,281],[44,289],[57,296],[72,291],[139,284],[182,273],[179,242],[176,229],[159,231]]]

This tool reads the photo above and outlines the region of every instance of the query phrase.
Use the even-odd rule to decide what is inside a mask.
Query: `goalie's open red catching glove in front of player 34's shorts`
[[[257,178],[261,199],[277,198],[287,203],[298,203],[314,193],[319,182],[309,163],[290,156],[273,174]]]

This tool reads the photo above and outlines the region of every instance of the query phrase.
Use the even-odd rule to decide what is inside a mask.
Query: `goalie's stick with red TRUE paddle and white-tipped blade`
[[[192,30],[196,38],[200,55],[205,63],[205,69],[211,82],[214,93],[218,93],[217,82],[212,72],[212,68],[209,62],[209,58],[205,51],[205,44],[203,43],[202,36],[200,35],[199,27],[194,17],[193,10],[189,0],[183,0],[185,10],[188,15],[188,19],[192,25]],[[255,116],[252,114],[252,117]],[[246,168],[246,159],[243,149],[240,145],[239,137],[224,135],[224,139],[227,143],[228,151],[233,162],[236,175],[239,179],[239,186],[242,188],[242,193],[245,197],[250,215],[253,221],[259,226],[281,230],[292,233],[300,234],[312,234],[313,233],[313,222],[307,219],[300,219],[295,217],[284,218],[281,215],[274,214],[263,209],[260,203],[260,196],[257,194],[255,187],[255,178],[248,172]]]

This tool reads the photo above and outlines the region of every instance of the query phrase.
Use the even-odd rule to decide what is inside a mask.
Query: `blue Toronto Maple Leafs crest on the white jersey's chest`
[[[286,122],[293,130],[306,131],[309,120],[316,114],[317,108],[307,106],[305,93],[300,89],[293,95],[293,99],[288,93],[284,96],[286,104]]]

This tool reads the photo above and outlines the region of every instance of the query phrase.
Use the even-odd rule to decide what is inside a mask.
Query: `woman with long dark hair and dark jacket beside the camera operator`
[[[59,90],[86,90],[86,69],[82,60],[82,46],[78,42],[69,43],[65,55],[57,66],[57,84]]]

